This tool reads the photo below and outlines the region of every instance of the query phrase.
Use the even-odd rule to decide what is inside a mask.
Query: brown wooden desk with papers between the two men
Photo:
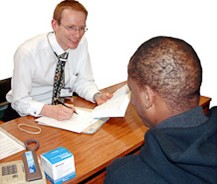
[[[123,83],[106,88],[114,92]],[[200,104],[209,108],[210,98],[202,97]],[[76,106],[93,108],[95,105],[79,97],[74,99]],[[37,155],[63,146],[74,154],[76,177],[67,183],[103,183],[105,168],[115,158],[135,153],[144,143],[144,134],[148,130],[132,105],[128,106],[124,118],[110,118],[101,129],[93,135],[77,134],[66,130],[40,126],[41,134],[31,135],[17,128],[19,123],[39,126],[31,116],[21,117],[0,125],[21,141],[30,138],[39,140]],[[7,157],[1,162],[20,160],[22,152]],[[50,183],[50,182],[48,182]]]

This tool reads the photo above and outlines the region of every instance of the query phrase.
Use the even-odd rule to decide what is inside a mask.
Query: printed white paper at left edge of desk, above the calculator
[[[19,140],[0,128],[0,160],[23,150],[25,147]]]

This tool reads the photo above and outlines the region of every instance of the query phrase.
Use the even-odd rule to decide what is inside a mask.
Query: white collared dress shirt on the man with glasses
[[[21,116],[39,116],[44,104],[51,104],[57,55],[65,51],[53,32],[38,35],[24,42],[14,55],[12,90],[6,95]],[[65,88],[94,102],[99,92],[92,74],[87,40],[83,37],[76,49],[68,49],[65,65]]]

